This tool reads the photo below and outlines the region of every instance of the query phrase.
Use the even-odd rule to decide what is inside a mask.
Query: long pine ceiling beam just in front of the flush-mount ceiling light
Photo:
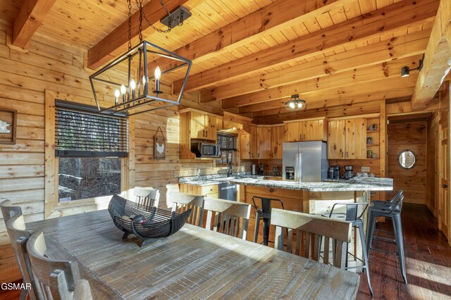
[[[363,46],[323,59],[266,73],[261,77],[250,77],[212,89],[211,94],[218,99],[228,98],[235,94],[240,95],[223,99],[223,108],[271,101],[291,94],[304,94],[306,92],[304,83],[301,83],[304,80],[316,80],[319,83],[323,81],[323,78],[333,74],[422,54],[428,43],[429,32],[430,30],[421,30],[391,41]],[[280,85],[280,82],[283,82],[283,85]],[[209,95],[202,94],[202,96]]]

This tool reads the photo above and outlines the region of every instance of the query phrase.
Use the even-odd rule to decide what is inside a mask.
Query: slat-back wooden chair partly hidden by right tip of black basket
[[[204,223],[204,196],[171,192],[168,194],[168,200],[172,201],[172,211],[175,211],[175,213],[183,213],[191,208],[192,213],[187,223],[202,227],[202,223]]]

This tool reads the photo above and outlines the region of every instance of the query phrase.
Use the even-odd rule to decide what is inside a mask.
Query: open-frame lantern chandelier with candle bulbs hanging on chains
[[[167,11],[163,2],[160,1],[160,3]],[[89,76],[94,99],[100,112],[135,115],[178,105],[182,99],[192,62],[163,49],[161,46],[143,41],[143,18],[149,26],[155,30],[157,29],[147,20],[142,12],[142,0],[137,0],[137,6],[140,13],[140,43],[132,48],[132,6],[131,0],[128,0],[128,51]],[[178,10],[180,11],[180,8]],[[169,13],[166,19],[172,18],[173,24],[168,26],[168,30],[157,31],[169,32],[171,27],[182,25],[184,12],[185,16],[190,16],[190,13],[186,10],[181,15],[178,15],[177,19]],[[168,97],[171,94],[171,85],[175,79],[173,77],[175,71],[178,78],[181,73],[185,72],[183,85],[178,95]],[[166,91],[163,91],[163,89]],[[147,107],[136,110],[136,108],[142,106]]]

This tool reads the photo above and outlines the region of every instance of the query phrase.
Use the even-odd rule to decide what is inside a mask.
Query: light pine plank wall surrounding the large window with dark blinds
[[[68,94],[74,101],[94,105],[89,71],[83,68],[85,52],[35,36],[30,51],[6,46],[6,27],[0,23],[0,108],[18,111],[17,142],[0,145],[0,201],[11,199],[22,207],[25,221],[44,218],[44,94],[45,90]],[[217,102],[198,103],[197,94],[185,94],[184,107],[219,113]],[[135,118],[135,186],[161,189],[161,207],[166,204],[166,185],[178,177],[217,173],[212,161],[180,161],[178,158],[178,107],[137,115]],[[166,159],[153,159],[153,137],[161,127],[167,138]],[[250,170],[250,168],[249,168]],[[96,209],[96,205],[73,209],[72,213]],[[0,282],[20,278],[0,220]]]

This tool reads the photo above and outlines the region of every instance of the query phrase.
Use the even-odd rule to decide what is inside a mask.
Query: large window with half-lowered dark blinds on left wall
[[[128,120],[95,110],[56,101],[58,202],[121,193],[121,160],[128,156]]]

